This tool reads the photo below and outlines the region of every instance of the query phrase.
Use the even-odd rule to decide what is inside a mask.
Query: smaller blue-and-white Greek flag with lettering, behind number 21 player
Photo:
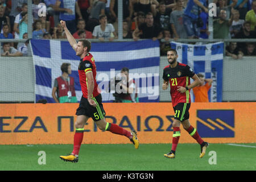
[[[193,45],[171,42],[171,48],[176,49],[179,55],[178,61],[189,65],[196,74],[201,73],[205,78],[213,79],[212,87],[208,92],[209,101],[221,102],[224,43]],[[193,102],[192,89],[191,98]]]

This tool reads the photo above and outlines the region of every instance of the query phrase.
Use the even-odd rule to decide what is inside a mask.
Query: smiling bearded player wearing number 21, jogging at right
[[[193,137],[201,146],[200,158],[203,158],[205,151],[209,146],[208,142],[204,142],[199,136],[196,129],[190,124],[189,107],[191,105],[191,97],[189,90],[201,83],[199,77],[193,70],[186,64],[177,62],[177,51],[170,49],[167,51],[168,66],[163,70],[163,86],[162,89],[166,90],[170,83],[172,106],[174,107],[174,133],[172,135],[172,149],[168,154],[164,154],[166,158],[175,158],[175,151],[180,138],[180,124],[188,131],[189,135]],[[190,78],[195,80],[190,83]]]

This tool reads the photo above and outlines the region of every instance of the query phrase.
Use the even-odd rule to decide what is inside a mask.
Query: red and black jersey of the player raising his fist
[[[88,53],[83,59],[80,60],[79,64],[79,81],[82,89],[82,97],[85,98],[88,97],[86,73],[90,71],[93,73],[94,80],[94,89],[92,96],[96,97],[98,96],[98,94],[100,94],[100,90],[98,90],[98,84],[96,82],[96,65],[93,56]]]

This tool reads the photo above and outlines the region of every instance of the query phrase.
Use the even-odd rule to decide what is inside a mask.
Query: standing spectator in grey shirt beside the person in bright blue
[[[183,3],[184,3],[184,0],[177,0],[176,8],[174,11],[172,11],[170,16],[171,28],[172,28],[172,32],[175,40],[187,38],[187,32],[183,24],[183,14],[184,14]]]

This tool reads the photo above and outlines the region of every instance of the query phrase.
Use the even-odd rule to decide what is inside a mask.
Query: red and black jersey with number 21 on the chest
[[[175,68],[171,68],[170,65],[164,67],[163,79],[170,82],[172,106],[176,106],[178,103],[191,103],[190,90],[184,93],[177,91],[177,86],[186,87],[190,85],[190,77],[193,77],[195,73],[186,64],[179,63]]]

